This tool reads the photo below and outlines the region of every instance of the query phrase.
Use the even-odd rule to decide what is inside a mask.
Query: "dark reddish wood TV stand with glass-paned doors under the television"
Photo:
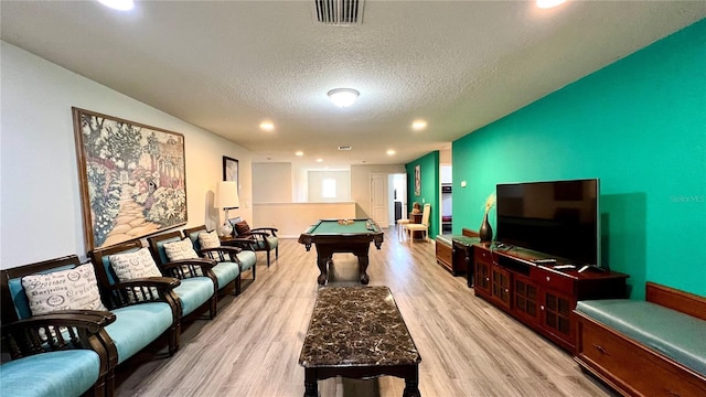
[[[578,268],[557,270],[566,265],[537,265],[542,253],[518,247],[498,249],[493,244],[473,246],[474,291],[477,297],[515,318],[571,354],[576,351],[576,302],[585,299],[625,298],[628,275]]]

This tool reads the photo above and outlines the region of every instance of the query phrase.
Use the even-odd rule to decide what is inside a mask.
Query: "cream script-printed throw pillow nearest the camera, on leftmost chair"
[[[56,310],[105,310],[93,264],[22,278],[32,315]]]

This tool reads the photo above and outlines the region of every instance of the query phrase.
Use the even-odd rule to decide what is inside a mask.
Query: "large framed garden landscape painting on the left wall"
[[[73,108],[88,249],[186,223],[184,136]]]

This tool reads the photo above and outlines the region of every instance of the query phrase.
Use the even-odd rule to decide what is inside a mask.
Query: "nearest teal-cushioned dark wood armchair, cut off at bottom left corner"
[[[4,310],[14,308],[10,303]],[[104,343],[109,341],[105,326],[114,321],[108,312],[63,311],[3,322],[2,353],[11,361],[0,365],[2,391],[18,397],[110,395],[111,363]]]

